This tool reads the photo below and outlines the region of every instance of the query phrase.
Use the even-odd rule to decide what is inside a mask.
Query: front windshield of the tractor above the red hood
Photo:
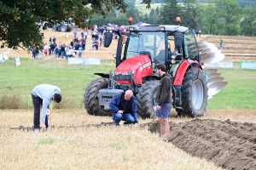
[[[151,59],[154,59],[160,51],[165,51],[165,32],[162,31],[136,31],[131,32],[130,41],[127,48],[126,59],[149,52]],[[162,56],[163,62],[165,56]]]

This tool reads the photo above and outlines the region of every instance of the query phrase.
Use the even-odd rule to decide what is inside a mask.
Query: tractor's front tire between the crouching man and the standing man
[[[159,81],[148,81],[143,84],[137,94],[137,113],[142,118],[155,118],[156,94]]]

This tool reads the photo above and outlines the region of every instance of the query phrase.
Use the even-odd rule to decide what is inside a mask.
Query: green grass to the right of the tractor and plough
[[[207,109],[255,109],[256,71],[241,70],[239,65],[232,69],[218,69],[228,85],[208,100]]]

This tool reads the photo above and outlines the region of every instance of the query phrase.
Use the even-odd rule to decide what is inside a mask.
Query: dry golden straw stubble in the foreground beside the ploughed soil
[[[203,118],[255,120],[253,111],[238,112],[207,111]],[[55,127],[39,133],[10,129],[32,127],[32,110],[2,110],[0,116],[1,169],[221,169],[139,126],[83,127],[112,122],[110,117],[89,116],[84,110],[55,110]],[[169,121],[190,120],[171,117]]]

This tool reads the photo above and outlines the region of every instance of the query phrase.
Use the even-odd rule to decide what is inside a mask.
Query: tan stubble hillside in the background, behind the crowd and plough
[[[70,43],[73,40],[73,32],[56,32],[56,31],[43,31],[44,32],[44,42],[49,44],[49,37],[55,36],[57,38],[57,43],[65,42]],[[78,32],[80,35],[80,31]],[[68,36],[68,37],[67,37]],[[216,47],[219,48],[219,41],[223,40],[224,48],[221,50],[222,54],[225,54],[224,60],[240,62],[241,60],[255,61],[256,54],[254,47],[256,46],[256,37],[228,37],[228,36],[209,36],[202,35],[197,37],[197,41],[207,41],[212,42]],[[113,54],[115,54],[117,46],[117,40],[113,40],[109,48],[99,48],[98,51],[94,51],[91,47],[91,37],[87,38],[86,46],[82,57],[84,58],[101,58],[101,59],[113,59]],[[32,58],[32,54],[27,54],[26,50],[19,49],[13,50],[8,48],[0,48],[0,54],[9,50],[9,57],[19,56]],[[78,57],[78,55],[76,56]],[[51,56],[40,56],[40,59],[58,59],[53,55]]]

